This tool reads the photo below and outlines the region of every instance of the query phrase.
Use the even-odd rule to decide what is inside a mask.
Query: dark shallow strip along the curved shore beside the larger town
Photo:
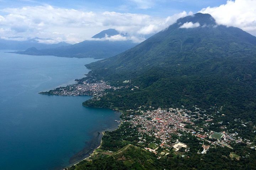
[[[116,111],[113,110],[115,112],[118,112],[120,115],[122,115],[122,112],[120,111]],[[81,151],[79,151],[78,153],[76,153],[75,155],[73,155],[70,159],[69,159],[69,165],[65,166],[65,168],[61,168],[59,170],[66,170],[66,168],[69,168],[70,166],[76,165],[80,162],[82,162],[83,160],[86,160],[87,158],[91,157],[91,154],[94,153],[94,151],[98,148],[100,148],[101,144],[102,144],[102,137],[104,135],[105,131],[114,131],[117,130],[119,128],[120,123],[117,123],[116,127],[114,128],[108,128],[108,129],[103,129],[101,131],[97,131],[93,133],[93,138],[91,141],[89,141],[89,146],[84,147]],[[74,161],[73,161],[74,159]]]

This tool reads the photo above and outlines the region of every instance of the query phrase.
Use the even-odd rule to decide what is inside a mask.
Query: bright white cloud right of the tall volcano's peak
[[[203,8],[199,12],[209,13],[218,24],[238,27],[256,35],[256,0],[228,0],[224,5]]]

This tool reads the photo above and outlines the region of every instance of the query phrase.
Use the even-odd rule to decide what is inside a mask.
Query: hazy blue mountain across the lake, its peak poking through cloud
[[[126,51],[138,43],[132,41],[109,41],[109,40],[98,40],[118,35],[119,33],[115,29],[104,30],[92,38],[95,40],[85,40],[74,45],[67,46],[49,46],[46,49],[38,49],[36,46],[31,46],[25,51],[17,51],[14,53],[26,54],[26,55],[53,55],[58,57],[76,57],[76,58],[108,58],[115,56],[123,51]],[[124,35],[124,34],[122,34]],[[97,39],[96,39],[97,38]]]

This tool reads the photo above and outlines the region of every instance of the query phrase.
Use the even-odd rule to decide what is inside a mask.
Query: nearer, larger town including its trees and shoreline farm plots
[[[230,149],[230,159],[239,161],[241,158],[249,158],[250,152],[248,150],[245,149],[243,155],[240,155],[233,152],[233,146],[237,143],[243,143],[247,148],[255,150],[255,146],[252,145],[253,142],[241,138],[237,132],[229,132],[228,129],[218,132],[204,129],[203,127],[209,122],[214,122],[214,118],[205,113],[205,111],[198,111],[198,108],[195,112],[184,108],[158,108],[150,111],[143,111],[140,107],[138,110],[130,109],[118,121],[121,123],[121,129],[117,134],[123,136],[123,142],[126,142],[127,138],[136,139],[133,141],[133,145],[153,152],[158,159],[168,154],[189,158],[191,152],[194,153],[194,148],[199,148],[196,154],[203,155],[208,153],[209,149],[214,149],[217,146]],[[198,120],[202,120],[202,127],[194,123]],[[221,124],[219,125],[223,128]],[[129,127],[128,129],[131,131],[124,127]],[[128,144],[126,147],[130,145]],[[113,154],[115,154],[114,151],[99,147],[89,158],[84,160],[92,161]]]

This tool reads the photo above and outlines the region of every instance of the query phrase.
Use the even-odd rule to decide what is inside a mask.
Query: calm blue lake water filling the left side
[[[119,113],[87,108],[90,96],[38,92],[84,77],[92,58],[28,56],[0,50],[0,167],[50,170],[69,165],[95,132],[117,126]]]

